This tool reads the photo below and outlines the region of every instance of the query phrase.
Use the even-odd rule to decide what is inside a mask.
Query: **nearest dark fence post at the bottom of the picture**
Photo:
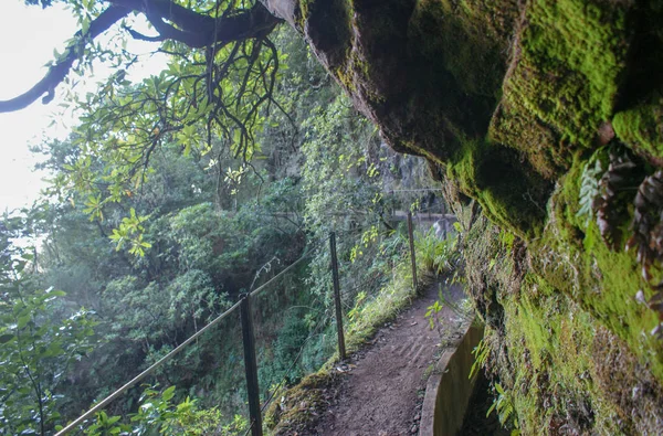
[[[251,295],[241,300],[240,318],[242,323],[242,341],[244,342],[244,371],[246,372],[246,391],[249,395],[249,417],[252,436],[262,436],[262,415],[260,411],[260,390],[257,387],[257,363],[255,360],[255,337],[251,318]]]

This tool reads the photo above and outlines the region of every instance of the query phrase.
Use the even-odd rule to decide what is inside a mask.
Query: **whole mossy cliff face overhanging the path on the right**
[[[459,211],[473,199],[508,235],[508,249],[470,251],[495,265],[471,283],[518,417],[548,433],[663,428],[659,319],[634,298],[653,291],[623,251],[636,185],[610,246],[579,214],[607,143],[641,180],[663,166],[663,1],[264,2],[396,150],[429,159]]]

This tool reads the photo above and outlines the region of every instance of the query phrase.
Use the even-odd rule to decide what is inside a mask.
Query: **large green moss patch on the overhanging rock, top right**
[[[591,147],[614,113],[627,68],[627,3],[537,0],[516,40],[493,140],[527,153],[547,178]]]

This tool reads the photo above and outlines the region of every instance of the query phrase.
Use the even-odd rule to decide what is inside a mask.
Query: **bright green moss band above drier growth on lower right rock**
[[[552,287],[621,338],[652,374],[663,380],[663,344],[649,334],[657,318],[634,298],[639,289],[651,296],[634,254],[611,249],[594,222],[586,227],[586,219],[577,216],[583,163],[578,156],[554,195],[550,224],[532,247],[537,253],[533,265]],[[622,223],[624,233],[629,221]]]

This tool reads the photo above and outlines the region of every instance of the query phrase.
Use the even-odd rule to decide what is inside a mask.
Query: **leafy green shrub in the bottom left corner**
[[[60,418],[59,387],[94,344],[96,322],[84,308],[62,312],[63,291],[29,276],[31,255],[14,249],[0,265],[0,434],[44,435]],[[65,311],[66,312],[66,311]]]

